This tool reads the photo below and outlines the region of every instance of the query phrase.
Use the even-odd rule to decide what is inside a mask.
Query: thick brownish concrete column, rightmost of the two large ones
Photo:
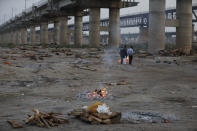
[[[176,45],[185,54],[192,49],[192,0],[177,0]]]

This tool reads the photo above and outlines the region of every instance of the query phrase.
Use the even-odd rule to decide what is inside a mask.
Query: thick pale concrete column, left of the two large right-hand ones
[[[166,0],[149,1],[148,52],[158,54],[165,49],[165,3]]]

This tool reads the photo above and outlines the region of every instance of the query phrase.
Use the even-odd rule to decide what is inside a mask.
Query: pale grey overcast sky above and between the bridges
[[[26,0],[27,8],[31,7],[33,3],[37,3],[40,0]],[[149,10],[149,0],[136,0],[139,3],[137,7],[131,7],[121,9],[121,15],[132,14],[137,12],[144,12]],[[197,3],[197,0],[193,0],[193,3]],[[166,0],[166,8],[175,7],[176,0]],[[0,24],[5,20],[10,19],[12,16],[22,12],[25,9],[25,0],[0,0]],[[102,9],[101,18],[108,17],[109,13],[107,9]],[[88,18],[85,17],[84,20]],[[72,20],[69,21],[72,23]]]

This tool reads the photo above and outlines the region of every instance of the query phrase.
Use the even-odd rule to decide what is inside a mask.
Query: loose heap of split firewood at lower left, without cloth
[[[67,119],[58,118],[58,116],[62,115],[60,113],[42,113],[37,109],[32,111],[34,112],[34,115],[28,115],[29,118],[25,120],[26,124],[51,128],[58,126],[58,124],[68,123]]]

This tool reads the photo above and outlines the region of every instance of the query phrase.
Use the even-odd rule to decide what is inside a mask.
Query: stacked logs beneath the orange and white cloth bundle
[[[75,116],[82,121],[90,124],[115,124],[120,123],[121,113],[112,112],[112,114],[87,112],[84,109],[76,109],[68,113],[68,115]]]

